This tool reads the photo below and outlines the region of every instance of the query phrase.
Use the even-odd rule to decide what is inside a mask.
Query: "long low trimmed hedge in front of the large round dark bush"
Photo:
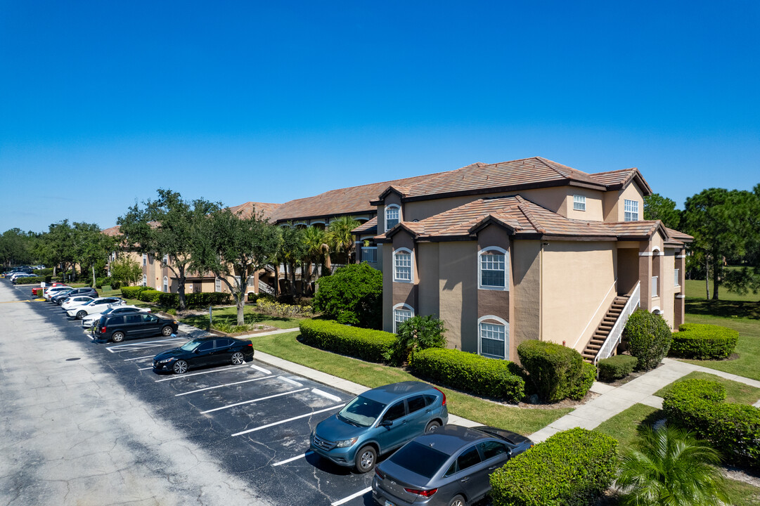
[[[382,330],[350,327],[335,321],[304,320],[301,340],[309,346],[368,362],[385,362],[393,353],[396,335]]]

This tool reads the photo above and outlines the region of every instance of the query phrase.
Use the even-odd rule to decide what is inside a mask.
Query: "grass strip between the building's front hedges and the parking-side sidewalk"
[[[298,335],[298,332],[289,332],[274,336],[253,337],[252,342],[255,349],[264,353],[296,364],[306,365],[306,367],[370,388],[397,381],[419,379],[401,368],[363,362],[306,346],[296,340]],[[572,408],[543,409],[504,406],[445,387],[439,386],[439,388],[446,394],[449,413],[463,416],[483,425],[492,425],[523,435],[530,435],[572,411]]]

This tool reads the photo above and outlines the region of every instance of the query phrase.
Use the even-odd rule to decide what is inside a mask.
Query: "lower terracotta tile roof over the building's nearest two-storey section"
[[[480,226],[489,221],[496,221],[508,227],[517,238],[540,235],[577,237],[578,239],[590,237],[633,239],[650,237],[658,228],[663,228],[658,220],[625,223],[571,220],[528,201],[520,195],[514,195],[481,198],[419,222],[403,222],[385,236],[392,236],[400,229],[407,229],[417,239],[471,237]],[[378,236],[378,238],[385,236]]]

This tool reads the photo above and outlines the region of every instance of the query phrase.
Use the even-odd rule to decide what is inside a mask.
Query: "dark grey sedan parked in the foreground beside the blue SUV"
[[[375,468],[372,498],[382,506],[466,506],[491,490],[489,476],[533,446],[515,432],[446,425],[409,441]]]

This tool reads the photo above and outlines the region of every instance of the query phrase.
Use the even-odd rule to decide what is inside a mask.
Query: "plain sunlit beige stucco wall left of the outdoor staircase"
[[[542,340],[581,352],[616,296],[614,242],[543,246]]]

